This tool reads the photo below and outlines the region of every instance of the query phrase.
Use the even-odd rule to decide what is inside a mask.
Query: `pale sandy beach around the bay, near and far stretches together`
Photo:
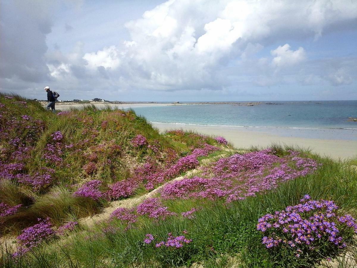
[[[70,110],[93,104],[98,109],[109,105],[112,108],[129,109],[137,107],[159,107],[171,105],[189,105],[175,103],[123,103],[123,104],[60,104],[59,110]],[[57,104],[56,104],[57,105]],[[298,146],[311,149],[313,153],[333,159],[346,160],[357,157],[356,129],[319,129],[319,128],[283,128],[251,126],[194,125],[177,123],[150,122],[159,131],[172,129],[193,130],[206,135],[222,136],[236,148],[251,146],[268,147],[275,144]],[[307,132],[308,131],[308,132]],[[349,135],[346,135],[346,133]],[[356,139],[351,139],[351,132],[356,132]],[[309,138],[306,138],[309,137]],[[338,139],[336,138],[338,137]]]

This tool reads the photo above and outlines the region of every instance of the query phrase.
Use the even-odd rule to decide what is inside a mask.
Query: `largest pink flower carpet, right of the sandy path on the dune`
[[[296,168],[291,166],[295,164]],[[313,159],[288,155],[279,158],[268,151],[233,155],[204,168],[204,177],[178,180],[161,189],[161,197],[224,198],[226,203],[275,189],[279,183],[305,176],[317,169]]]

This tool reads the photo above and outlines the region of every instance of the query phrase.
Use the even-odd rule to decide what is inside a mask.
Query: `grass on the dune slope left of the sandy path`
[[[50,217],[55,224],[60,224],[68,217],[97,213],[106,205],[105,202],[83,202],[72,197],[72,193],[83,183],[99,179],[105,184],[112,184],[132,177],[135,167],[145,163],[147,158],[154,158],[158,165],[163,165],[168,158],[176,161],[203,143],[217,145],[212,137],[202,137],[193,132],[182,137],[160,134],[144,117],[136,116],[132,110],[122,111],[110,106],[97,110],[94,105],[84,105],[81,109],[71,109],[67,115],[58,116],[43,109],[38,101],[18,95],[11,95],[12,99],[8,99],[7,96],[0,93],[1,105],[5,105],[5,108],[0,108],[0,126],[7,132],[6,136],[0,135],[0,161],[21,162],[11,159],[11,154],[18,153],[9,143],[19,138],[29,149],[28,157],[22,161],[25,162],[24,173],[33,175],[43,167],[54,168],[55,173],[53,183],[40,190],[0,178],[0,202],[11,206],[22,204],[16,215],[0,217],[2,234],[16,235],[22,228],[37,223],[37,218]],[[24,115],[31,116],[31,119],[21,119]],[[106,122],[105,126],[103,122]],[[60,165],[47,163],[43,157],[55,131],[61,131],[64,136],[60,145],[63,151]],[[133,148],[130,141],[137,134],[144,135],[148,144],[155,145],[159,152],[146,147]],[[70,144],[76,150],[64,149]],[[101,149],[102,145],[106,147]],[[114,151],[112,145],[120,149]],[[95,158],[89,160],[91,155]],[[97,169],[87,174],[83,167],[90,161],[97,165]],[[137,194],[145,192],[145,188],[141,187]]]

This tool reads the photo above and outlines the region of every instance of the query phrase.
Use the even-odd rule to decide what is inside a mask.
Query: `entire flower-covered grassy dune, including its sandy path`
[[[0,127],[2,267],[356,263],[353,160],[17,95],[0,95]]]

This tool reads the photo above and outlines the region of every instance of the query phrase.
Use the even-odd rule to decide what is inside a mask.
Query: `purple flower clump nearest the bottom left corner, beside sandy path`
[[[44,220],[38,219],[38,221],[39,223],[22,230],[22,233],[16,238],[19,247],[17,248],[17,252],[14,253],[14,257],[24,254],[30,248],[36,247],[43,240],[55,234],[50,218]]]

